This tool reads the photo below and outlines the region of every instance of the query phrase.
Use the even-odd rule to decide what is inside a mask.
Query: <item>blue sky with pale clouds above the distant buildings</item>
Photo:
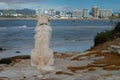
[[[102,9],[112,9],[114,12],[120,12],[120,0],[0,0],[0,9],[49,9],[73,10],[84,9],[91,10],[93,6]]]

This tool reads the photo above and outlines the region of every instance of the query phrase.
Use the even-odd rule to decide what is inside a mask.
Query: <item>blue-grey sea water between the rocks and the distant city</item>
[[[94,36],[114,28],[109,20],[52,20],[50,47],[54,52],[82,52],[94,45]],[[0,20],[0,58],[29,55],[34,48],[35,20]],[[16,53],[20,51],[20,53]]]

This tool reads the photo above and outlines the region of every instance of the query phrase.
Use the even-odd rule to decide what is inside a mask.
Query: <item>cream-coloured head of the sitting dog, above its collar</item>
[[[40,25],[43,25],[43,24],[49,25],[50,19],[48,16],[41,14],[37,17],[37,22]]]

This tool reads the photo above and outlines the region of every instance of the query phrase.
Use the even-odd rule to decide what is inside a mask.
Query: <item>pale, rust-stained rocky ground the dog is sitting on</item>
[[[46,74],[31,67],[30,56],[1,59],[0,80],[120,80],[120,55],[108,50],[54,53],[54,58],[55,71]]]

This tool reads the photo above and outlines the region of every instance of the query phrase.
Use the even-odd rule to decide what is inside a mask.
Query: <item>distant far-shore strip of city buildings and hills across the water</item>
[[[54,19],[108,19],[113,16],[113,12],[110,9],[100,9],[97,6],[91,9],[73,9],[73,10],[56,10],[55,8],[50,9],[8,9],[0,10],[1,16],[14,16],[14,17],[32,17],[35,18],[37,15],[46,14],[50,18]]]

